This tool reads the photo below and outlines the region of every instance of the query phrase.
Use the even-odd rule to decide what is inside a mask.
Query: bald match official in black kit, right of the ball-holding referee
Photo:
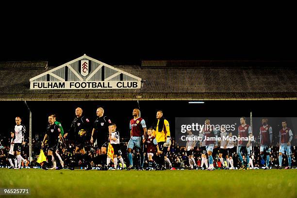
[[[112,122],[109,117],[104,115],[103,108],[97,108],[96,115],[97,119],[95,120],[93,125],[91,143],[93,144],[94,142],[96,142],[97,139],[97,145],[99,148],[101,148],[99,162],[101,163],[102,168],[100,170],[108,170],[106,148],[108,147],[109,143],[109,134],[112,133]]]

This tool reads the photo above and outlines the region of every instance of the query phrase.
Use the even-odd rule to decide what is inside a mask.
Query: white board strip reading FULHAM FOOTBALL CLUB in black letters
[[[141,81],[30,82],[31,90],[140,89]]]

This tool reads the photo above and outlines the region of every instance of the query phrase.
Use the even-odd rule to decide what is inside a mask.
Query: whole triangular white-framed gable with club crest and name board
[[[141,78],[87,55],[30,79],[32,90],[140,89]]]

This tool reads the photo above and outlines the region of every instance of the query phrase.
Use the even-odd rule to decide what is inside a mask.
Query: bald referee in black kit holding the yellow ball
[[[92,169],[90,159],[84,150],[85,136],[90,129],[90,121],[87,117],[82,115],[82,108],[76,108],[75,115],[76,118],[74,118],[69,131],[64,134],[64,138],[69,134],[69,139],[73,140],[75,144],[75,156],[69,169],[74,170],[74,162],[83,161],[84,159],[87,164],[86,170],[90,170]]]

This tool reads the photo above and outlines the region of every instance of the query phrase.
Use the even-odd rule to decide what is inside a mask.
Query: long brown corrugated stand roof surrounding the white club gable
[[[20,66],[16,66],[20,67]],[[11,99],[296,99],[296,68],[114,66],[143,79],[139,90],[30,90],[29,79],[53,69],[0,70],[0,100]]]

